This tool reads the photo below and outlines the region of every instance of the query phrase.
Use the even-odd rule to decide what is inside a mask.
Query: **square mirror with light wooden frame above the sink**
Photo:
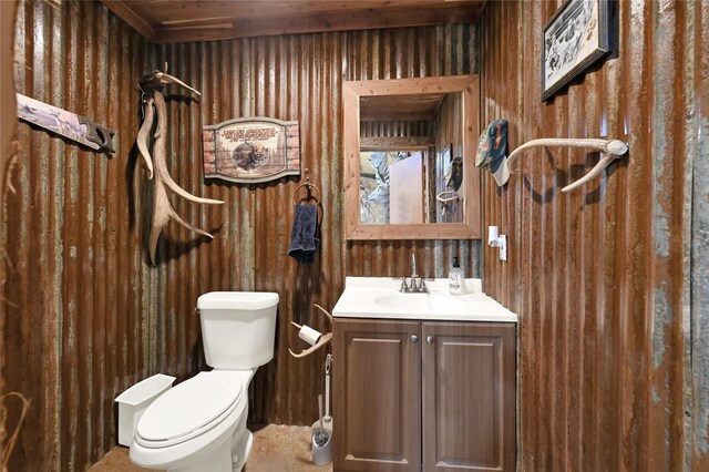
[[[342,101],[347,239],[480,239],[477,75],[346,81]]]

